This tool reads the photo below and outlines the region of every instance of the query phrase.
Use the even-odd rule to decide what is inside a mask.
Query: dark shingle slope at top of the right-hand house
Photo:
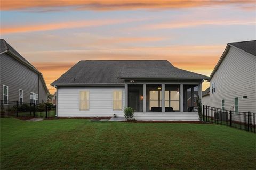
[[[256,40],[235,42],[235,43],[229,43],[229,44],[256,56]]]

